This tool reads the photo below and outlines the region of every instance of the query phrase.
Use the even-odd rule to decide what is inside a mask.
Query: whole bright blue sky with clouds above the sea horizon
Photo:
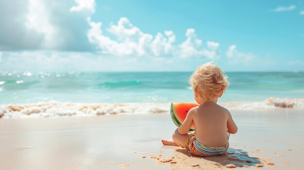
[[[0,71],[304,71],[302,0],[0,0]]]

